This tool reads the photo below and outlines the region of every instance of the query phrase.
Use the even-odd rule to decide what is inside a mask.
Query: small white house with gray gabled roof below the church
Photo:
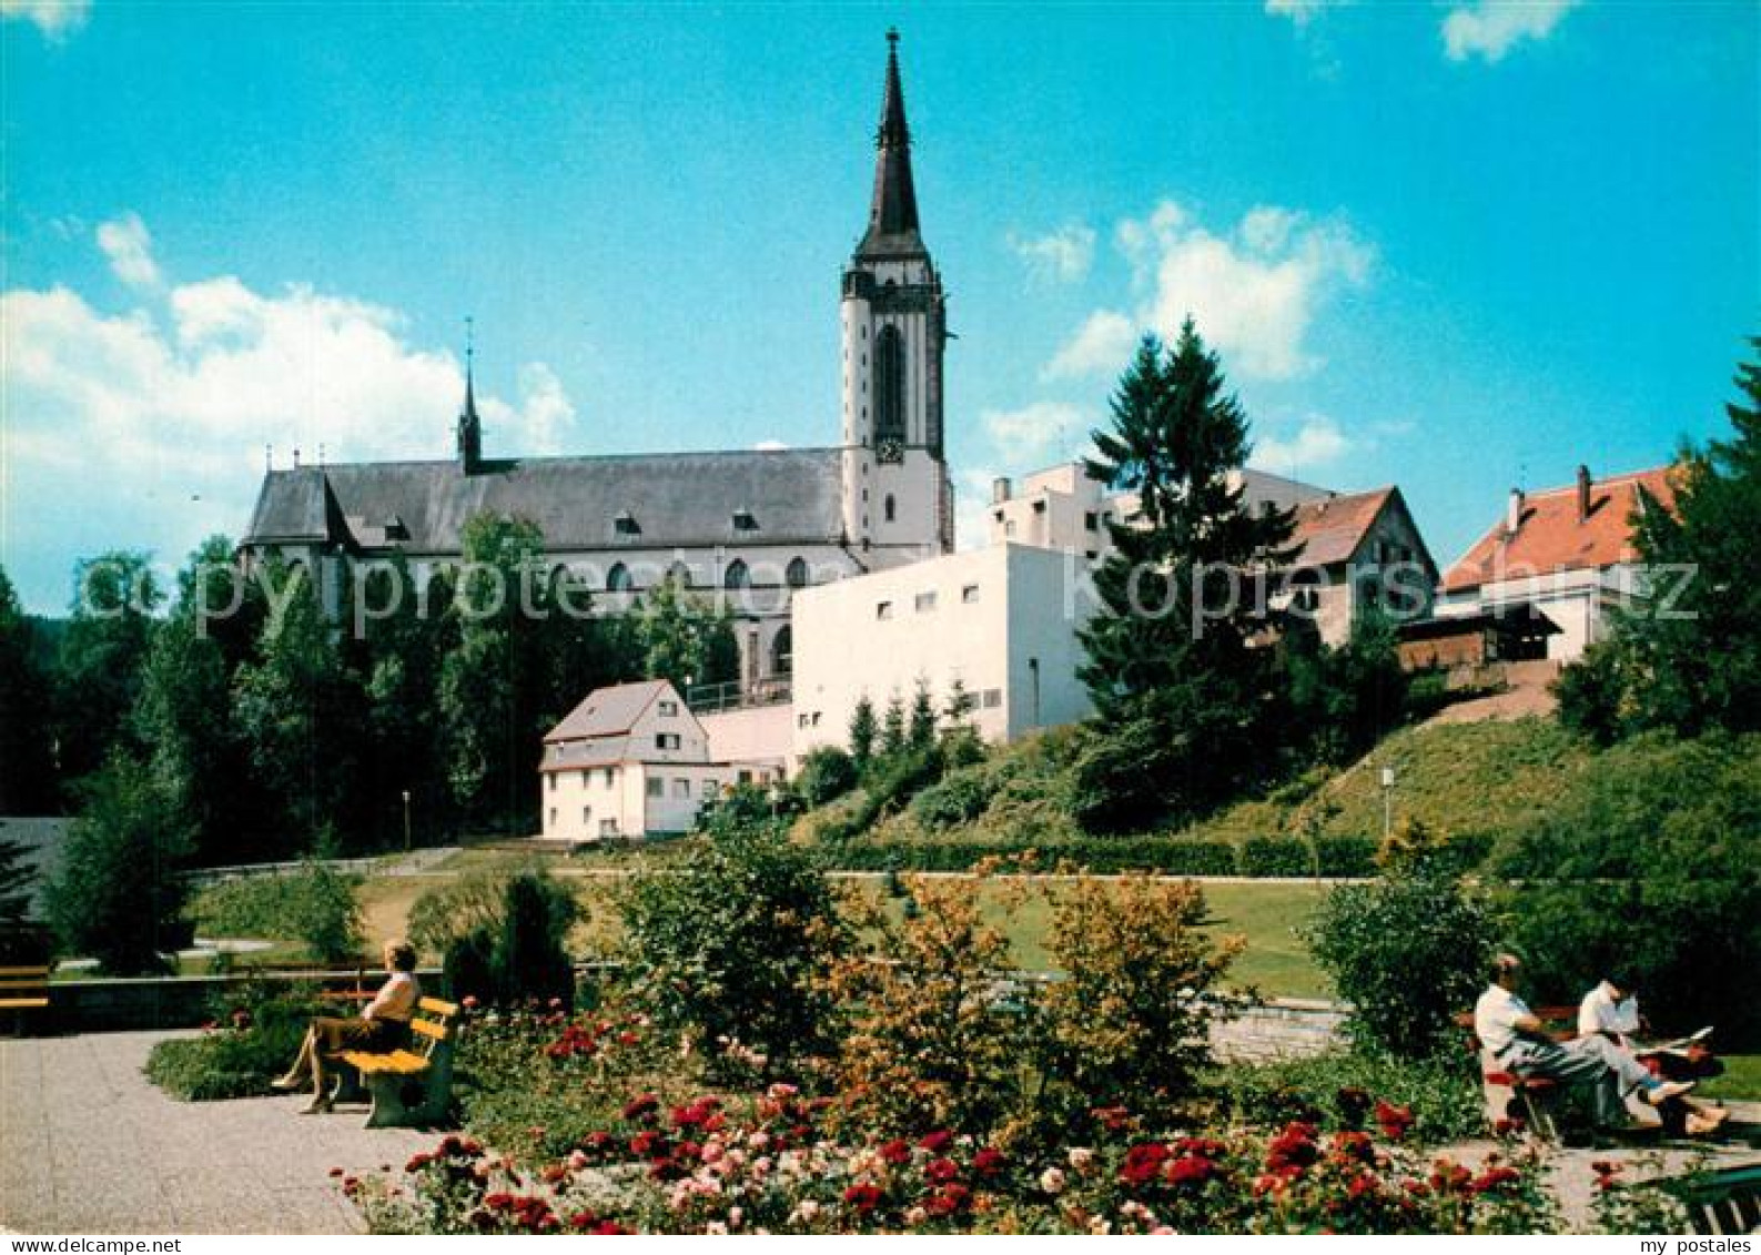
[[[544,836],[683,833],[703,803],[770,774],[755,764],[713,762],[703,723],[664,679],[595,688],[544,736]]]

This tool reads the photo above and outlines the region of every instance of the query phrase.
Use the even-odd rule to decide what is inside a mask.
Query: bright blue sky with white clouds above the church
[[[1261,465],[1398,482],[1448,565],[1722,431],[1761,331],[1752,4],[0,11],[41,613],[236,537],[264,445],[446,456],[467,315],[491,454],[833,442],[895,21],[969,509],[1192,312]]]

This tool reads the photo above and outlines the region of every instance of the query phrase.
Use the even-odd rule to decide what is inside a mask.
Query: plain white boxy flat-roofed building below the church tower
[[[993,544],[835,584],[794,598],[794,755],[849,745],[863,697],[880,718],[926,685],[937,709],[958,683],[970,722],[991,741],[1090,713],[1076,678],[1078,628],[1094,614],[1085,561]]]

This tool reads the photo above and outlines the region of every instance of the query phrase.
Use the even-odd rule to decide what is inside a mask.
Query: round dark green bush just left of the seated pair
[[[1453,877],[1419,868],[1338,885],[1305,936],[1351,1003],[1359,1046],[1400,1058],[1460,1051],[1451,1017],[1485,984],[1495,931],[1488,906]]]

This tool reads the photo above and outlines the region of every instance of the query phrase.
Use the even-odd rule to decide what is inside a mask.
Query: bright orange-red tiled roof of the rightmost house
[[[1486,535],[1449,567],[1444,591],[1479,588],[1500,579],[1543,572],[1613,567],[1638,556],[1629,523],[1639,488],[1664,509],[1675,509],[1673,468],[1655,466],[1590,481],[1590,509],[1578,517],[1578,486],[1529,493],[1511,535],[1499,519]]]

